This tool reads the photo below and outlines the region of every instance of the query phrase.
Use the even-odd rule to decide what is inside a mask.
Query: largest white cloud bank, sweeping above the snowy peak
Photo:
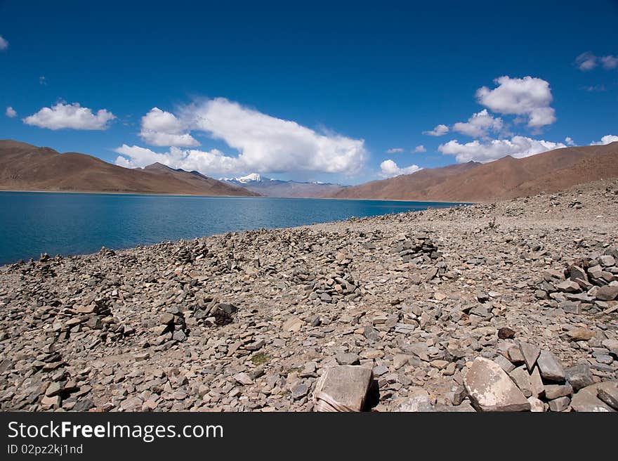
[[[172,124],[171,117],[161,117]],[[204,174],[282,173],[319,171],[352,175],[360,171],[367,157],[364,140],[333,133],[317,133],[296,122],[279,119],[246,108],[225,98],[206,100],[180,111],[183,126],[221,139],[237,156],[219,150],[181,150],[157,153],[140,146],[122,145],[117,164],[143,167],[160,162],[170,167],[195,169]],[[150,126],[150,125],[149,125]],[[152,125],[155,128],[159,125]]]

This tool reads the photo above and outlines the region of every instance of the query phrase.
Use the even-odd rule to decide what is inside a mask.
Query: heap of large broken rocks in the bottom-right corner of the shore
[[[553,353],[526,342],[493,361],[475,358],[464,389],[477,411],[618,410],[617,381],[596,382],[587,362],[563,368]]]

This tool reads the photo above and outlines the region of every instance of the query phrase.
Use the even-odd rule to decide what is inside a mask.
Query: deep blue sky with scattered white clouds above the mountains
[[[196,3],[0,0],[0,138],[361,183],[618,136],[615,0]]]

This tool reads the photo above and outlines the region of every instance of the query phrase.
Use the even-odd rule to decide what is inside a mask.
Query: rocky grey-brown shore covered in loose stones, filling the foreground
[[[0,408],[310,411],[350,365],[365,410],[618,410],[617,223],[599,181],[4,266]]]

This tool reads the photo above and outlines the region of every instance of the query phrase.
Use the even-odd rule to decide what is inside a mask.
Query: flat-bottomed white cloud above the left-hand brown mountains
[[[105,130],[108,122],[115,119],[112,112],[105,109],[93,114],[89,108],[82,108],[79,103],[58,103],[52,108],[42,108],[36,114],[23,119],[28,125],[39,126],[52,130],[69,128],[81,130]]]

